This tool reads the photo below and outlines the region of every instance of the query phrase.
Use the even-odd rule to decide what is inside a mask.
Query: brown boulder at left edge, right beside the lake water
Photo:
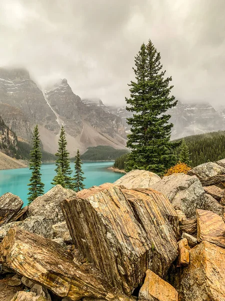
[[[19,197],[5,193],[0,197],[0,226],[7,223],[14,215],[18,213],[23,205]]]

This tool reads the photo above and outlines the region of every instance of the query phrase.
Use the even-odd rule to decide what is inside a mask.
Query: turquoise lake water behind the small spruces
[[[74,171],[74,163],[71,163],[71,169]],[[113,183],[119,179],[123,174],[114,173],[107,170],[111,167],[113,162],[83,162],[82,170],[84,172],[85,188],[91,186],[98,186],[103,183]],[[41,167],[41,181],[45,184],[44,192],[52,188],[51,181],[55,175],[54,164],[43,164]],[[30,178],[30,171],[28,168],[11,169],[0,171],[0,196],[6,192],[19,196],[26,205],[28,182]]]

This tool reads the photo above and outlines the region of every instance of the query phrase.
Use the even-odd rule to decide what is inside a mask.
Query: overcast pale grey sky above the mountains
[[[224,12],[224,0],[0,0],[0,65],[121,105],[134,56],[151,39],[177,99],[222,104]]]

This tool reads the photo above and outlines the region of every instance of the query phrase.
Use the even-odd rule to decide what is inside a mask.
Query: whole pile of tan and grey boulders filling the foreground
[[[0,197],[1,301],[225,300],[225,160]]]

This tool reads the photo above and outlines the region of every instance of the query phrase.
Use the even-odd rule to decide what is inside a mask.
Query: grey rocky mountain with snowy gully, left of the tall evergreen
[[[72,92],[66,79],[41,91],[26,70],[0,68],[0,103],[2,118],[21,139],[29,140],[37,123],[44,150],[50,153],[56,152],[61,125],[71,155],[77,148],[84,152],[100,144],[124,148],[126,135],[120,117],[101,107],[90,108]]]

